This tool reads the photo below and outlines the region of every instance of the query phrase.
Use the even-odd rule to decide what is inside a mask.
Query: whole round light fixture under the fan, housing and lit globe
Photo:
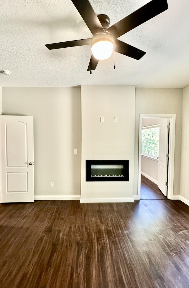
[[[104,60],[112,55],[114,39],[108,34],[97,33],[92,37],[91,52],[98,60]]]

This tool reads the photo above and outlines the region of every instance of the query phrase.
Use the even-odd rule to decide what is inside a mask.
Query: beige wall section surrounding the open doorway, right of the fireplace
[[[180,191],[183,89],[136,88],[134,195],[138,184],[139,114],[176,114],[174,192]]]

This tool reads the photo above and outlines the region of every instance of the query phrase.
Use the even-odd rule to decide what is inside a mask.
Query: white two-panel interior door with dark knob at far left
[[[0,202],[33,202],[33,116],[0,116],[0,136]]]

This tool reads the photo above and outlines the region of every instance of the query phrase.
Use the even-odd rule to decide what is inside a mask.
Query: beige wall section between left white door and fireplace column
[[[3,114],[34,116],[35,195],[80,195],[81,89],[3,87]]]

